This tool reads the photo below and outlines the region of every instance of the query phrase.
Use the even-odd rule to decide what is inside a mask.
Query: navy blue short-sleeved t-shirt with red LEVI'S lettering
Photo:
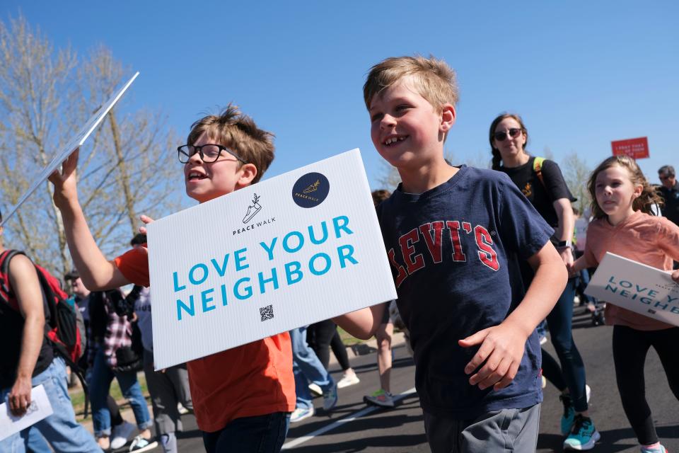
[[[517,260],[540,251],[554,232],[516,185],[498,171],[461,166],[425,193],[399,187],[377,211],[423,410],[468,419],[542,401],[535,332],[516,378],[500,391],[469,384],[464,368],[478,347],[458,345],[516,308],[525,293]]]

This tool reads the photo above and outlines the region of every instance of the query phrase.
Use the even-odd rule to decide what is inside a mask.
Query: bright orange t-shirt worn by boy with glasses
[[[115,258],[127,280],[149,286],[149,258],[132,249]],[[219,431],[236,418],[295,409],[287,332],[187,363],[198,428]]]

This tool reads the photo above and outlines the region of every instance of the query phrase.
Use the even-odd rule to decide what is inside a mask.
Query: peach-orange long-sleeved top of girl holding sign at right
[[[606,252],[657,269],[671,270],[672,260],[679,260],[679,226],[665,217],[641,211],[634,212],[615,226],[606,219],[596,219],[587,228],[584,254],[587,267],[596,267]],[[604,317],[607,324],[628,326],[638,331],[674,327],[614,304],[606,304]]]

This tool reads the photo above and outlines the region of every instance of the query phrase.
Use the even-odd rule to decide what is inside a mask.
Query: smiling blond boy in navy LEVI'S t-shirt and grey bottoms
[[[431,451],[534,452],[542,401],[535,326],[567,272],[552,229],[508,177],[443,159],[457,98],[455,73],[433,57],[372,67],[364,85],[371,138],[402,180],[378,219]],[[518,258],[536,270],[525,293]],[[383,309],[336,320],[369,338]]]

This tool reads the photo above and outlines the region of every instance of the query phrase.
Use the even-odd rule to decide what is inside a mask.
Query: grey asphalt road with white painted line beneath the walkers
[[[634,432],[622,412],[620,396],[615,386],[615,372],[611,355],[610,327],[591,326],[588,315],[576,308],[574,336],[587,368],[587,382],[592,388],[591,416],[601,433],[594,452],[639,452]],[[547,350],[554,352],[550,343]],[[363,396],[378,387],[375,355],[352,359],[352,366],[361,382],[340,389],[340,401],[334,411],[323,413],[320,398],[315,400],[316,415],[300,423],[291,424],[284,448],[298,453],[331,452],[429,452],[424,437],[422,410],[415,393],[401,396],[390,410],[366,411]],[[339,369],[331,367],[340,379]],[[651,350],[646,360],[646,397],[656,420],[658,436],[672,452],[679,451],[679,401],[671,393],[660,360]],[[392,371],[392,391],[402,394],[414,386],[414,365],[403,345],[395,348]],[[540,417],[538,452],[561,452],[563,437],[559,433],[562,406],[557,391],[547,384]],[[185,432],[179,433],[180,452],[202,452],[202,440],[191,415],[183,418]],[[325,431],[325,432],[319,432]]]

